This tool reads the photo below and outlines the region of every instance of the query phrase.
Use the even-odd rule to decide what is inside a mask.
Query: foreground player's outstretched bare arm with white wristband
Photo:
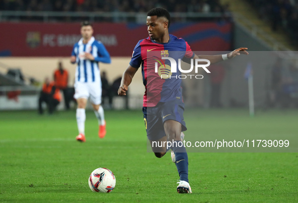
[[[247,52],[247,48],[245,48],[245,47],[237,48],[237,49],[233,50],[232,52],[228,53],[226,56],[224,56],[224,55],[213,55],[213,56],[211,56],[211,55],[199,55],[199,56],[195,55],[194,59],[207,59],[210,61],[210,64],[215,64],[215,63],[227,60],[227,59],[232,59],[235,56],[238,56],[241,54],[249,55],[249,53]],[[226,59],[224,59],[224,57],[226,57]]]

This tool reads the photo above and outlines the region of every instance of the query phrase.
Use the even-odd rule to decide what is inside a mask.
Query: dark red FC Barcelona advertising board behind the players
[[[67,57],[81,38],[80,23],[0,23],[0,56]],[[131,56],[138,40],[148,36],[146,24],[94,23],[94,36],[111,56]],[[176,23],[169,32],[193,50],[229,50],[231,23]]]

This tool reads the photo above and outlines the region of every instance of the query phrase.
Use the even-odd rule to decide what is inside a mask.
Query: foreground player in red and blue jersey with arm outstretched
[[[146,87],[143,113],[151,148],[155,156],[161,158],[166,154],[167,147],[153,146],[153,141],[159,143],[164,143],[167,140],[173,141],[171,146],[173,156],[171,157],[180,176],[180,181],[177,182],[177,191],[179,193],[191,193],[188,180],[188,155],[182,142],[184,138],[182,131],[186,130],[186,124],[183,118],[184,104],[181,79],[174,77],[180,71],[177,69],[177,73],[172,73],[173,77],[161,78],[158,73],[154,72],[154,63],[148,63],[150,59],[147,55],[158,51],[161,53],[159,54],[160,57],[160,55],[175,51],[184,53],[182,56],[184,59],[207,59],[213,64],[240,54],[248,55],[248,53],[246,52],[247,48],[238,48],[226,55],[197,56],[184,39],[168,33],[169,26],[170,15],[165,9],[154,8],[147,13],[149,37],[140,40],[135,46],[130,64],[123,74],[118,94],[126,95],[132,78],[142,65],[143,83]],[[178,61],[177,58],[175,60]],[[149,77],[150,79],[148,79]],[[151,89],[148,90],[148,87]],[[148,117],[150,119],[147,119]]]

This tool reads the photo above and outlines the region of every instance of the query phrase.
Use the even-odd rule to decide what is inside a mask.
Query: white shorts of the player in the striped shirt
[[[101,84],[100,82],[76,82],[74,98],[90,98],[94,105],[101,104]]]

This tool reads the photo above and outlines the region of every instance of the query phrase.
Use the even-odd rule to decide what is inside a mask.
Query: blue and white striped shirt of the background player
[[[94,61],[85,60],[85,54],[90,53],[94,57]],[[97,82],[100,81],[100,72],[98,62],[111,63],[109,53],[100,41],[96,41],[94,37],[83,43],[83,38],[74,45],[72,56],[76,57],[78,64],[76,69],[76,82]]]

